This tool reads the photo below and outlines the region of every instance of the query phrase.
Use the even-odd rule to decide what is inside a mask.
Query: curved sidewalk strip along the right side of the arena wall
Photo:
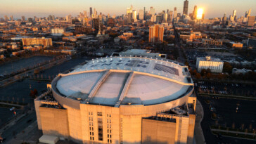
[[[205,143],[205,136],[203,136],[203,130],[201,127],[201,122],[203,120],[203,107],[199,100],[196,100],[196,124],[194,131],[194,138],[197,144]]]

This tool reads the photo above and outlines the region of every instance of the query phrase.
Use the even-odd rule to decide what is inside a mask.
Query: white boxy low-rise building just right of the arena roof
[[[224,62],[219,58],[211,58],[210,56],[196,58],[196,68],[198,72],[203,69],[210,69],[211,72],[222,72]]]

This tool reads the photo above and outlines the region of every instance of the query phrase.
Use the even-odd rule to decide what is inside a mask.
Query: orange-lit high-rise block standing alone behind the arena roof
[[[150,43],[162,43],[164,38],[165,27],[160,25],[154,25],[149,27],[149,39]]]

